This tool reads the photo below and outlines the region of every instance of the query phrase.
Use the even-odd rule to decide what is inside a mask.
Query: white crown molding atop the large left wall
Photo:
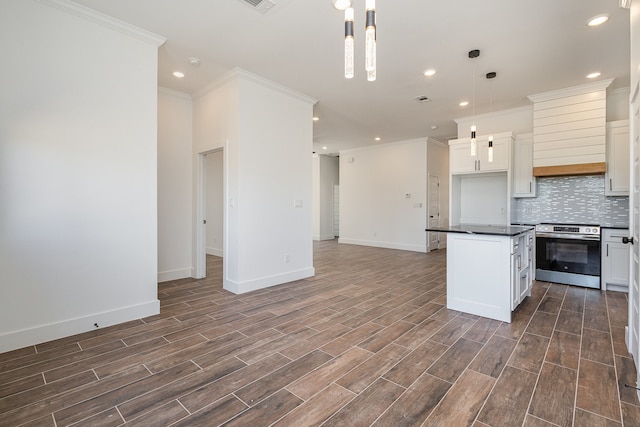
[[[136,27],[134,25],[128,24],[124,21],[113,18],[109,15],[105,15],[104,13],[100,13],[93,9],[89,9],[86,6],[73,3],[69,0],[36,0],[36,1],[39,1],[40,3],[46,6],[52,7],[54,9],[58,9],[63,12],[69,13],[71,15],[75,15],[80,18],[86,19],[87,21],[93,22],[94,24],[101,25],[110,30],[115,30],[115,31],[118,31],[119,33],[135,37],[138,40],[142,40],[143,42],[151,43],[158,47],[162,46],[162,44],[165,41],[167,41],[165,37],[159,36],[155,33],[152,33],[151,31],[147,31],[140,27]]]

